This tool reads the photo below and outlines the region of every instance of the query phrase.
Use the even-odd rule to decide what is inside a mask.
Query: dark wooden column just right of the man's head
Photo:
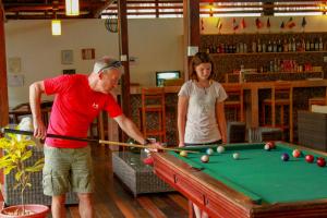
[[[119,55],[124,66],[124,74],[121,80],[121,105],[124,114],[131,118],[131,98],[130,98],[130,55],[129,55],[129,31],[126,0],[118,1],[118,35],[119,35]],[[122,134],[121,141],[125,142],[128,136]]]

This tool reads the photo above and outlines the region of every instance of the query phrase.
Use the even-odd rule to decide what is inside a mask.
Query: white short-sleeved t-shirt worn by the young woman
[[[211,143],[221,140],[216,117],[216,102],[227,98],[222,85],[213,82],[202,88],[194,81],[187,81],[181,87],[179,96],[189,97],[184,143]]]

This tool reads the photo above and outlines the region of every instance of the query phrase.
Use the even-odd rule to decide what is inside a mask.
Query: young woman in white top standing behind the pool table
[[[213,80],[214,62],[207,53],[197,52],[190,64],[191,80],[179,92],[179,146],[226,143],[223,100],[227,94],[221,84]],[[197,218],[207,217],[196,205],[194,210]]]

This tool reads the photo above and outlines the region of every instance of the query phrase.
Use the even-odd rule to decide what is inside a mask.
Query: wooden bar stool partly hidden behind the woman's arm
[[[244,122],[244,97],[241,84],[227,84],[223,86],[228,98],[223,101],[227,114],[233,112],[233,120]],[[229,111],[230,110],[230,111]]]

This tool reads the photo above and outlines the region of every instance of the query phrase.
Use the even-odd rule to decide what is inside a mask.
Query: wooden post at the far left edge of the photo
[[[8,85],[5,64],[5,40],[4,40],[4,11],[0,2],[0,126],[8,124]]]

